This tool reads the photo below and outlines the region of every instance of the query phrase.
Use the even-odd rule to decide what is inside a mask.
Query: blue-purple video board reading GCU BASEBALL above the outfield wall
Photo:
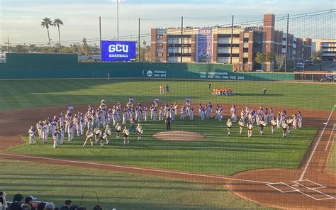
[[[101,41],[101,60],[133,61],[136,50],[136,42]]]

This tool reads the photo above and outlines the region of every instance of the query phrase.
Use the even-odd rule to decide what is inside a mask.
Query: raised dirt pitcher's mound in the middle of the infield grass
[[[153,137],[159,140],[200,140],[206,136],[203,133],[189,131],[165,131],[155,133]]]

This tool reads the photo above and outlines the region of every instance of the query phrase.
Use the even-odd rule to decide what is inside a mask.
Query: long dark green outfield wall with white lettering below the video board
[[[0,79],[168,78],[291,81],[294,74],[233,72],[232,65],[162,62],[78,62],[77,54],[9,53]]]

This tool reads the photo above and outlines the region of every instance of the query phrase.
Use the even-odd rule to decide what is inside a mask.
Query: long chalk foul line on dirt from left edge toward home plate
[[[79,163],[79,164],[84,164],[84,165],[86,164],[86,165],[99,165],[99,166],[106,166],[106,167],[119,167],[119,168],[130,169],[130,170],[164,172],[164,173],[172,174],[172,175],[187,175],[187,176],[194,176],[194,177],[208,177],[208,178],[215,178],[215,179],[228,179],[228,180],[235,180],[235,181],[242,181],[242,182],[256,182],[256,183],[261,183],[261,184],[271,184],[271,182],[261,182],[261,181],[247,180],[247,179],[235,179],[235,178],[230,178],[230,177],[218,177],[218,176],[212,176],[212,175],[199,175],[199,174],[188,173],[188,172],[175,172],[175,171],[169,171],[169,170],[157,170],[157,169],[132,167],[132,166],[125,166],[125,165],[109,165],[109,164],[103,164],[103,163],[98,163],[98,162],[83,162],[83,161],[77,161],[77,160],[65,160],[65,159],[58,159],[58,158],[51,158],[51,157],[37,157],[37,156],[29,156],[29,155],[14,155],[14,154],[6,154],[6,153],[0,153],[0,155],[12,156],[12,157],[28,157],[28,158],[40,159],[40,160],[54,160],[58,162],[72,162],[72,163]]]

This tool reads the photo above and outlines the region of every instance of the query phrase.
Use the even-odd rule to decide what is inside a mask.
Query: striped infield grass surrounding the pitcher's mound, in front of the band
[[[123,146],[121,140],[113,140],[106,148],[86,146],[82,148],[84,137],[75,138],[74,142],[66,143],[54,149],[49,145],[20,145],[7,150],[10,153],[26,155],[45,155],[80,160],[94,160],[115,164],[155,167],[169,170],[201,172],[218,175],[233,175],[243,170],[264,167],[298,167],[313,140],[317,128],[301,128],[293,130],[287,138],[282,137],[281,129],[275,134],[270,127],[265,127],[264,136],[260,136],[255,126],[254,136],[247,138],[246,130],[240,136],[237,125],[231,136],[226,136],[225,122],[215,119],[201,122],[174,121],[174,131],[196,131],[206,135],[203,140],[196,141],[162,141],[152,138],[153,133],[164,131],[164,123],[158,121],[142,122],[144,135],[140,142],[130,136],[130,146]]]

